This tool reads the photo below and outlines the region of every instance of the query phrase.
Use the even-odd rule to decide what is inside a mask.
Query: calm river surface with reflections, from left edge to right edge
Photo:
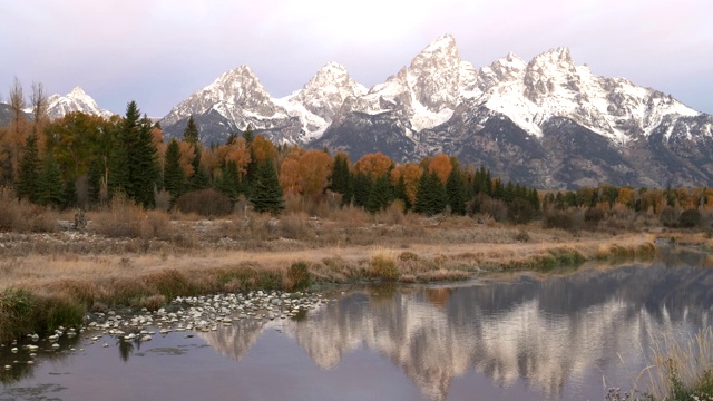
[[[652,336],[710,324],[711,288],[713,270],[665,263],[343,287],[300,320],[144,343],[85,332],[0,370],[0,400],[603,400],[632,387]],[[8,348],[2,365],[28,359]]]

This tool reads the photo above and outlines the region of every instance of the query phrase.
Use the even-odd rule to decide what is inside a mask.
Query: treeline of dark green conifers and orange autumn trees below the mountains
[[[50,120],[41,85],[32,86],[31,119],[19,84],[10,91],[11,119],[0,128],[0,186],[18,197],[56,208],[92,208],[120,194],[145,208],[203,215],[231,213],[237,203],[279,214],[285,196],[338,202],[370,213],[389,207],[433,216],[489,215],[515,224],[544,217],[567,225],[561,212],[584,211],[598,222],[616,211],[660,215],[670,226],[700,224],[711,205],[709,188],[632,188],[599,185],[544,192],[463,166],[439,154],[398,164],[381,153],[351,160],[346,153],[275,145],[250,127],[225,144],[203,146],[193,118],[183,138],[164,139],[158,123],[136,102],[125,116],[69,113]],[[564,219],[564,222],[563,222]]]

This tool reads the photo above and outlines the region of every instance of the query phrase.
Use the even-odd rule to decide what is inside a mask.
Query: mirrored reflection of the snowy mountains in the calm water
[[[632,385],[653,338],[687,339],[707,326],[712,287],[710,268],[583,268],[455,287],[350,290],[305,320],[276,324],[324,370],[365,348],[388,356],[432,400],[447,399],[456,378],[473,373],[501,389],[521,382],[530,392],[522,399],[533,391],[603,399],[603,379]],[[237,361],[266,325],[201,335]]]

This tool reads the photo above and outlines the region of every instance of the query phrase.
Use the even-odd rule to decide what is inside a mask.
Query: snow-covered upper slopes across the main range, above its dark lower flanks
[[[178,104],[162,124],[202,115],[206,121],[221,120],[215,125],[219,135],[251,125],[281,141],[310,144],[329,127],[356,121],[354,115],[383,115],[418,147],[416,133],[448,124],[455,110],[473,105],[510,118],[536,138],[551,118],[567,118],[619,146],[648,137],[663,121],[682,126],[675,124],[678,118],[700,115],[656,90],[595,76],[587,66],[576,66],[567,48],[529,62],[509,53],[478,70],[461,60],[455,38],[445,35],[369,90],[343,66],[330,62],[302,89],[275,99],[241,66]]]

